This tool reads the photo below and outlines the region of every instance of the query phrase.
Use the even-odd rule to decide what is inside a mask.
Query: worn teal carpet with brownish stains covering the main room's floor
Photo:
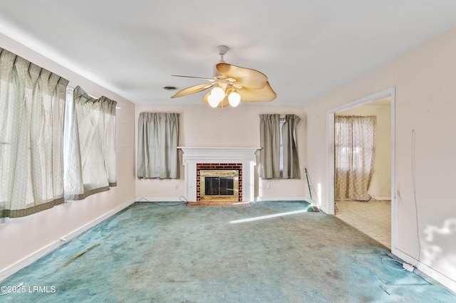
[[[0,282],[24,290],[0,301],[456,302],[308,203],[166,205],[135,203],[91,228]]]

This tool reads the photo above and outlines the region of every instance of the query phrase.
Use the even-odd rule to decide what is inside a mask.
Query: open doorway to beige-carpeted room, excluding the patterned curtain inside
[[[335,216],[361,230],[374,240],[392,248],[395,238],[395,90],[391,88],[348,103],[328,112],[328,193]],[[377,131],[374,173],[366,201],[336,201],[335,117],[338,115],[375,115]]]

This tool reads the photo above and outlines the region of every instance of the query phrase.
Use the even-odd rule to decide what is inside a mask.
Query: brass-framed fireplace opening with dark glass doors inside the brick
[[[199,196],[203,201],[238,201],[239,171],[234,169],[200,170]]]

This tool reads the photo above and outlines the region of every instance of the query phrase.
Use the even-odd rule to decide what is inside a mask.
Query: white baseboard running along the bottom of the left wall
[[[89,223],[82,225],[81,227],[77,228],[76,230],[73,230],[71,233],[63,235],[63,237],[58,238],[57,240],[54,240],[52,243],[44,246],[43,248],[37,250],[36,252],[32,252],[30,255],[24,257],[23,259],[19,260],[18,262],[10,265],[9,267],[4,268],[4,270],[0,271],[0,281],[3,281],[7,277],[13,275],[14,273],[19,272],[19,270],[21,270],[22,268],[30,265],[31,263],[35,262],[36,260],[40,259],[41,257],[44,257],[49,252],[55,250],[59,246],[68,242],[69,240],[75,238],[76,236],[80,235],[81,233],[85,232],[86,230],[93,228],[93,226],[97,225],[98,223],[103,222],[103,220],[106,220],[110,216],[115,215],[115,213],[122,211],[124,208],[127,208],[128,206],[130,206],[133,203],[135,203],[135,199],[127,201],[127,202],[121,204],[120,206],[113,208],[111,211],[108,211],[108,213],[105,213],[104,215],[96,218],[95,220],[92,220]]]

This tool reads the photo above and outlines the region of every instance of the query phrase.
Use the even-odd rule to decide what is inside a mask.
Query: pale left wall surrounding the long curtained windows
[[[76,75],[48,58],[33,52],[19,43],[0,34],[0,46],[26,58],[51,72],[70,81],[71,86],[80,85],[90,95],[105,95],[118,102],[117,110],[117,181],[118,186],[110,191],[98,193],[83,201],[65,203],[47,211],[15,218],[0,224],[0,280],[11,267],[26,265],[27,257],[34,252],[41,255],[58,246],[58,239],[68,237],[75,230],[81,230],[96,218],[122,207],[135,197],[135,105],[123,97],[100,87],[96,83]],[[51,245],[51,247],[49,246]],[[44,248],[44,251],[42,250]],[[20,262],[20,261],[24,262]],[[33,258],[31,258],[33,260]],[[13,268],[16,270],[17,268]]]

